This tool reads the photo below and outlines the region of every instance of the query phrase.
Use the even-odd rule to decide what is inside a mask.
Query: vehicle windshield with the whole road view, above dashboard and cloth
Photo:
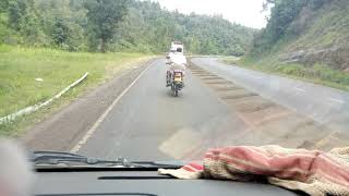
[[[342,147],[348,23],[335,0],[1,0],[0,137],[121,166]]]

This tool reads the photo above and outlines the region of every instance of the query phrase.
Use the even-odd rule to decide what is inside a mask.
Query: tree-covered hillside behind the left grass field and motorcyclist
[[[241,56],[256,30],[139,0],[1,0],[0,42],[69,51],[164,52],[171,40],[202,54]]]

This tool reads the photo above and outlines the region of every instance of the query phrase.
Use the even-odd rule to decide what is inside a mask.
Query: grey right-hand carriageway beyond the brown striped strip
[[[349,93],[226,65],[216,58],[196,58],[193,62],[335,130],[347,131],[349,127]]]

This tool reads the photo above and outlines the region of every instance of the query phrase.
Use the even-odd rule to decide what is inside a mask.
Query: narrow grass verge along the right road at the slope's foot
[[[238,65],[269,74],[297,78],[314,84],[329,86],[342,90],[349,90],[349,73],[330,69],[324,64],[304,66],[299,63],[280,63],[273,58],[264,58],[260,61],[249,58],[242,59],[220,59],[221,62]]]

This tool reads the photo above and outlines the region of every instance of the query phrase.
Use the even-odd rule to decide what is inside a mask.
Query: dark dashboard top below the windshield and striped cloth
[[[157,171],[37,172],[37,196],[294,196],[293,192],[261,183],[214,180],[178,180]]]

